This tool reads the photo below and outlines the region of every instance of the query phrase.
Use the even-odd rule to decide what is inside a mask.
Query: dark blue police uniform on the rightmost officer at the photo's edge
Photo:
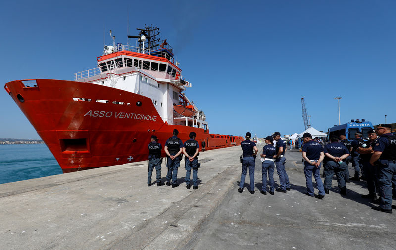
[[[380,208],[392,212],[392,179],[396,178],[396,135],[381,135],[375,142],[374,152],[382,152],[378,162]]]

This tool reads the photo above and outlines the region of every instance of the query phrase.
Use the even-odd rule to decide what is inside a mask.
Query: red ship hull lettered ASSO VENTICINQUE
[[[33,86],[24,83],[12,81],[4,88],[63,172],[147,160],[151,135],[164,145],[175,128],[182,141],[196,132],[200,149],[202,142],[210,150],[240,145],[243,140],[209,134],[200,128],[168,125],[150,98],[116,88],[50,79],[33,80]]]

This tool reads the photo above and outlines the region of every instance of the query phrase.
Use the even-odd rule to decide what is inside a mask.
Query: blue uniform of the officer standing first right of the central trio
[[[312,174],[315,179],[316,186],[319,190],[319,195],[325,195],[325,190],[323,187],[322,179],[320,178],[320,165],[316,168],[311,165],[312,162],[316,162],[320,158],[320,152],[323,152],[323,147],[321,144],[317,143],[314,140],[310,140],[302,146],[302,152],[306,152],[306,157],[311,162],[304,162],[304,174],[306,180],[306,188],[308,190],[308,195],[314,196],[314,189],[312,184]]]

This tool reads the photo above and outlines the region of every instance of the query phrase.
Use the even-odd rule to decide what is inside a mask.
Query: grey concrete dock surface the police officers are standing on
[[[260,194],[258,157],[256,192],[240,194],[240,154],[201,153],[197,190],[186,189],[183,161],[176,188],[148,187],[148,161],[2,184],[0,249],[396,248],[396,213],[370,209],[360,197],[365,182],[347,183],[341,197],[333,180],[323,200],[308,197],[301,153],[292,150],[291,191]]]

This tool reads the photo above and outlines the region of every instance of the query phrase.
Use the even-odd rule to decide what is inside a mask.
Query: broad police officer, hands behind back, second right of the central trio
[[[349,156],[346,146],[338,142],[337,136],[330,138],[330,144],[327,144],[323,152],[325,159],[323,161],[323,172],[325,175],[325,193],[328,194],[331,188],[334,172],[337,176],[337,184],[340,188],[340,194],[347,195],[347,184],[345,183],[345,175],[347,174],[347,164],[345,159]]]

